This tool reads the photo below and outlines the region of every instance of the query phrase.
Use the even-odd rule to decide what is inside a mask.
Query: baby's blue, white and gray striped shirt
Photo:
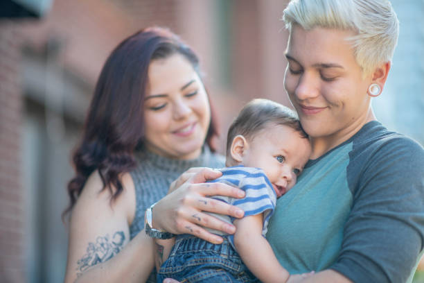
[[[213,196],[217,200],[222,200],[224,203],[236,205],[244,210],[245,216],[251,216],[263,213],[263,229],[262,235],[265,237],[267,233],[267,225],[270,221],[272,213],[274,212],[276,203],[276,193],[272,188],[270,180],[267,178],[262,169],[245,167],[245,166],[232,166],[224,169],[222,176],[216,180],[209,182],[223,182],[233,187],[238,187],[246,192],[245,198],[231,198],[229,196]],[[212,214],[222,221],[232,223],[236,218],[222,215]],[[210,232],[219,235],[227,235],[229,242],[234,247],[233,235],[224,234],[224,232],[208,229]]]

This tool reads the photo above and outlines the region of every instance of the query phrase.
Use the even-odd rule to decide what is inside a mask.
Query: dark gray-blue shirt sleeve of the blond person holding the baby
[[[405,137],[377,147],[358,157],[366,162],[356,163],[353,206],[330,268],[353,282],[407,282],[423,251],[424,150]]]

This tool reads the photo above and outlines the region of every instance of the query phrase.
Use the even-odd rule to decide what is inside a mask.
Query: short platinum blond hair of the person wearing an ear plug
[[[399,21],[388,0],[292,0],[284,10],[289,31],[293,24],[305,30],[335,28],[356,33],[351,42],[364,75],[391,61],[398,43]]]

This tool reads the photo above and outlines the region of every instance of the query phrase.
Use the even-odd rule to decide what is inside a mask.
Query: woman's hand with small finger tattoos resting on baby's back
[[[173,234],[193,234],[211,243],[222,243],[222,238],[202,226],[229,234],[236,228],[218,218],[205,214],[213,212],[242,218],[242,209],[208,196],[242,198],[245,192],[222,183],[204,183],[215,180],[222,173],[209,168],[194,168],[183,173],[170,185],[168,195],[154,205],[152,225]]]

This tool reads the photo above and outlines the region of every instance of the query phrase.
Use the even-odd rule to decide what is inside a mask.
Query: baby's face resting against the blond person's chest
[[[242,164],[263,169],[279,198],[296,184],[310,153],[309,140],[299,132],[270,123],[249,141]]]

